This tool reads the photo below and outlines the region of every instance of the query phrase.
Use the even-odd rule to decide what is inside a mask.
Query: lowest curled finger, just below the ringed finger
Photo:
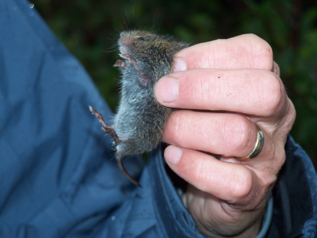
[[[226,163],[195,150],[169,146],[164,151],[169,167],[181,178],[219,199],[235,203],[257,190],[254,172],[243,165]]]

